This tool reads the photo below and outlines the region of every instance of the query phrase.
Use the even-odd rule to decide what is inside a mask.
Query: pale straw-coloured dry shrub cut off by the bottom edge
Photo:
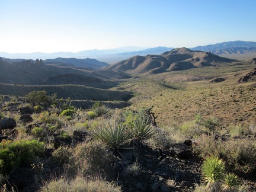
[[[52,191],[113,191],[121,192],[121,188],[114,183],[108,183],[107,181],[95,178],[94,180],[88,180],[82,176],[76,176],[69,179],[66,177],[60,177],[59,179],[53,179],[47,181],[46,184],[41,187],[41,192]]]

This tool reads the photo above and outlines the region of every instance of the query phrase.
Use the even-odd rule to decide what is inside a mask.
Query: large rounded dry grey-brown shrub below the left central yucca
[[[88,143],[81,143],[74,149],[72,165],[79,169],[81,174],[97,174],[101,169],[110,168],[113,154],[106,145],[95,140]]]

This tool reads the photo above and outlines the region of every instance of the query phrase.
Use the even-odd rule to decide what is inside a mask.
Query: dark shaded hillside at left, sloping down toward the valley
[[[92,71],[73,65],[45,65],[43,60],[21,60],[9,63],[0,57],[0,83],[21,85],[76,84],[110,88],[113,78],[129,78],[127,74],[107,70]]]

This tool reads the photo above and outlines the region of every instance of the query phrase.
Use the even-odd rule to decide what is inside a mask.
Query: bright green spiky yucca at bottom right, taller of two
[[[220,191],[225,175],[225,163],[216,156],[209,156],[202,167],[203,182],[209,191]]]

